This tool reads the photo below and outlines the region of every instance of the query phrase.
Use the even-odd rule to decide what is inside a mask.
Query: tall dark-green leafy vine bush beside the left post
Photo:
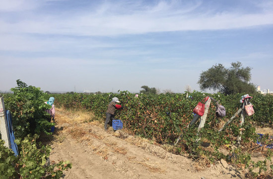
[[[27,134],[40,134],[48,131],[54,125],[48,122],[49,114],[45,111],[50,106],[45,104],[46,95],[40,88],[27,86],[17,80],[17,87],[12,88],[13,94],[4,95],[5,109],[12,115],[15,137]]]

